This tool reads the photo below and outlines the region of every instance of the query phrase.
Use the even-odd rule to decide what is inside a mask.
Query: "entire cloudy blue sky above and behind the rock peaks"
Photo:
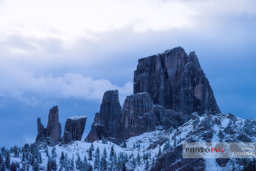
[[[133,93],[137,60],[195,51],[222,112],[255,118],[255,1],[1,1],[0,146],[22,146],[59,106],[86,114],[104,91]],[[63,131],[62,131],[63,133]]]

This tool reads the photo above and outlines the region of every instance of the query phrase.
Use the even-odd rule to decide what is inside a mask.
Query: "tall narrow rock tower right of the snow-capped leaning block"
[[[108,90],[104,93],[100,112],[95,113],[91,131],[87,135],[88,142],[93,142],[102,136],[116,138],[117,119],[121,113],[118,90]]]

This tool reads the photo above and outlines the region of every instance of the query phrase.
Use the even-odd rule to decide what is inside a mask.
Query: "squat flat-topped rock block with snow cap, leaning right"
[[[86,115],[73,116],[73,117],[69,117],[66,120],[65,132],[67,131],[70,133],[71,140],[81,141],[86,120],[87,120]],[[64,132],[64,134],[65,134],[65,132]],[[68,141],[69,139],[70,138],[66,138],[66,140],[65,140],[65,138],[64,138],[64,143],[65,144],[70,143],[70,141]]]

